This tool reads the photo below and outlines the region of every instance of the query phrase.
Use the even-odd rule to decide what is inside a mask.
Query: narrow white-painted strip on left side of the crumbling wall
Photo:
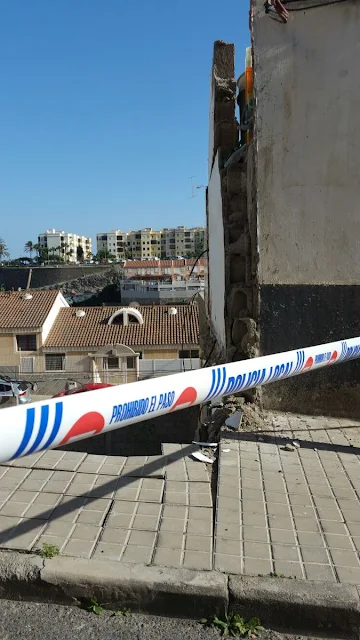
[[[218,152],[208,187],[208,225],[210,317],[216,337],[225,348],[225,248]]]

